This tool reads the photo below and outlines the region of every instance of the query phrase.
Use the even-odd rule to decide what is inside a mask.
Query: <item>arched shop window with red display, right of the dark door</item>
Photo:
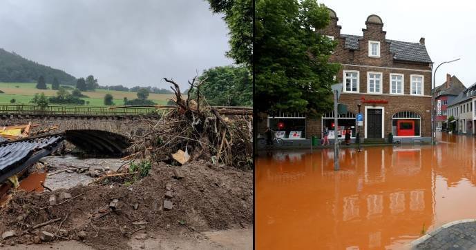
[[[420,115],[415,112],[398,112],[392,116],[394,136],[420,136]]]

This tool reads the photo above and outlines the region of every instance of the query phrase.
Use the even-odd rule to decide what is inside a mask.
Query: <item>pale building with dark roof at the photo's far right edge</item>
[[[458,134],[476,134],[474,105],[476,105],[476,83],[459,93],[453,101],[448,102],[448,117],[455,118],[450,123],[455,123],[455,130]]]

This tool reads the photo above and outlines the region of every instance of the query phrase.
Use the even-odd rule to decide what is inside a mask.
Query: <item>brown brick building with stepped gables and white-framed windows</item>
[[[383,22],[374,14],[365,21],[362,36],[341,34],[338,20],[330,10],[330,24],[316,32],[339,42],[330,56],[330,62],[342,65],[336,75],[344,83],[339,103],[348,107],[347,114],[338,116],[339,134],[344,127],[350,127],[355,138],[355,117],[361,104],[361,138],[383,140],[392,133],[394,140],[430,140],[432,61],[425,39],[418,43],[386,39]],[[301,131],[301,138],[321,138],[323,127],[334,127],[332,110],[321,118],[301,114],[262,118],[265,122],[260,123],[258,133],[269,126],[282,132],[284,138],[292,138],[288,134],[296,137],[296,131]],[[332,131],[330,138],[333,136]]]

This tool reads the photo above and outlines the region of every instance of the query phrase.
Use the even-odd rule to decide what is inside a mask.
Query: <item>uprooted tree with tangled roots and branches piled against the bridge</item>
[[[200,93],[200,85],[207,80],[198,77],[189,81],[195,90],[194,98],[182,96],[180,87],[173,79],[176,109],[164,112],[160,120],[151,126],[151,132],[134,136],[135,143],[129,148],[133,158],[151,158],[155,161],[171,159],[171,154],[182,150],[185,160],[207,160],[213,164],[225,164],[249,169],[252,164],[252,125],[249,114],[223,117],[215,107],[207,103]],[[190,91],[189,91],[190,93]],[[251,116],[250,116],[251,117]]]

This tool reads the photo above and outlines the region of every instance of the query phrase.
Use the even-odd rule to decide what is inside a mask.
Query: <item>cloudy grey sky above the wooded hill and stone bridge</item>
[[[0,0],[0,48],[100,85],[188,86],[233,63],[227,33],[204,0]]]

